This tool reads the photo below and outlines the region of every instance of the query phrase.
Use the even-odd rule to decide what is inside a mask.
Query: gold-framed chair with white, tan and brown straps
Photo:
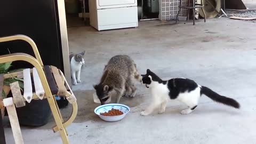
[[[11,77],[19,77],[19,78],[23,78],[23,81],[24,81],[23,95],[21,95],[18,82],[15,82],[10,84],[13,98],[5,98],[1,100],[1,97],[0,97],[0,109],[4,107],[7,109],[7,112],[9,114],[9,119],[11,122],[15,144],[23,144],[23,139],[20,131],[20,126],[19,126],[19,121],[18,121],[16,110],[15,110],[15,106],[16,107],[25,106],[25,101],[31,102],[31,100],[33,99],[41,99],[41,100],[47,99],[56,123],[56,125],[53,126],[53,131],[54,132],[59,131],[62,142],[65,144],[69,143],[67,138],[66,127],[74,121],[77,115],[77,103],[76,103],[75,95],[71,91],[66,81],[66,78],[63,75],[61,70],[59,70],[54,66],[43,65],[43,62],[37,50],[37,46],[31,38],[25,35],[14,35],[14,36],[0,37],[0,42],[15,41],[18,39],[26,41],[30,44],[36,58],[25,53],[13,53],[13,54],[6,54],[6,55],[0,56],[0,63],[21,60],[21,61],[29,62],[31,65],[34,66],[33,69],[23,69],[22,71],[18,71],[15,73],[0,75],[0,91],[1,91],[0,96],[2,95],[4,79],[11,78]],[[31,77],[31,75],[33,77]],[[31,78],[33,78],[35,82],[34,92],[31,84]],[[63,118],[61,116],[61,113],[54,95],[66,97],[69,103],[72,105],[73,111],[67,121],[63,121]]]

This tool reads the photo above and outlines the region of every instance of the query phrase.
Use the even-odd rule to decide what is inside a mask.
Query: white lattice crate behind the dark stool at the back
[[[159,20],[175,20],[179,4],[188,5],[187,0],[159,0]],[[179,17],[187,17],[188,9],[181,9]]]

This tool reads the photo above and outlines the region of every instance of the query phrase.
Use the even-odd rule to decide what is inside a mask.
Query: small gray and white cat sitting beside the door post
[[[77,83],[81,83],[81,68],[84,65],[84,54],[85,51],[82,53],[71,53],[69,54],[70,60],[70,70],[71,70],[71,78],[73,79],[73,85],[77,85]]]

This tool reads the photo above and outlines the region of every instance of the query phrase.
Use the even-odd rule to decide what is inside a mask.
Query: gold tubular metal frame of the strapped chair
[[[73,107],[71,116],[68,118],[68,120],[66,122],[63,122],[57,102],[56,102],[55,98],[53,97],[54,95],[52,95],[49,84],[46,80],[44,70],[43,70],[43,62],[41,60],[41,57],[39,55],[39,52],[37,50],[37,46],[36,46],[35,42],[31,38],[29,38],[28,36],[25,36],[25,35],[13,35],[13,36],[7,36],[7,37],[0,37],[0,42],[9,42],[9,41],[15,41],[15,40],[23,40],[23,41],[26,41],[27,43],[29,43],[34,51],[36,58],[32,57],[29,54],[25,54],[25,53],[13,53],[13,54],[1,55],[0,63],[21,60],[21,61],[29,62],[31,65],[33,65],[36,68],[39,78],[41,79],[43,89],[45,91],[44,98],[46,98],[47,101],[49,102],[49,105],[50,105],[50,108],[51,108],[51,111],[52,111],[52,114],[53,114],[53,117],[54,117],[54,120],[56,123],[56,126],[53,127],[53,131],[54,132],[59,131],[62,142],[65,144],[68,144],[69,142],[68,142],[68,138],[67,138],[67,131],[65,128],[74,121],[74,119],[77,115],[76,101],[71,103],[71,105]],[[22,73],[22,71],[19,71],[16,73],[5,74],[4,78],[17,77],[19,75],[19,73]],[[65,79],[65,81],[66,81],[66,78],[63,76],[63,74],[62,74],[62,78]],[[67,81],[66,81],[66,84],[67,84]],[[68,91],[66,92],[65,97],[67,99],[71,98],[72,96],[74,96],[73,92],[68,92]],[[35,94],[33,94],[33,99],[38,99]],[[0,109],[1,109],[1,105],[0,105]]]

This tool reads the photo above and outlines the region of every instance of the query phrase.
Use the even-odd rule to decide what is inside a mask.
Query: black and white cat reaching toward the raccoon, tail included
[[[223,103],[234,108],[239,108],[239,103],[231,98],[224,97],[212,91],[208,87],[198,85],[187,78],[172,78],[163,81],[152,71],[147,69],[146,75],[142,76],[142,84],[151,90],[153,100],[145,111],[141,111],[142,116],[149,115],[154,109],[159,108],[158,113],[164,113],[167,101],[177,99],[185,103],[188,108],[181,111],[181,114],[191,113],[198,104],[199,98],[205,94],[210,99]]]

